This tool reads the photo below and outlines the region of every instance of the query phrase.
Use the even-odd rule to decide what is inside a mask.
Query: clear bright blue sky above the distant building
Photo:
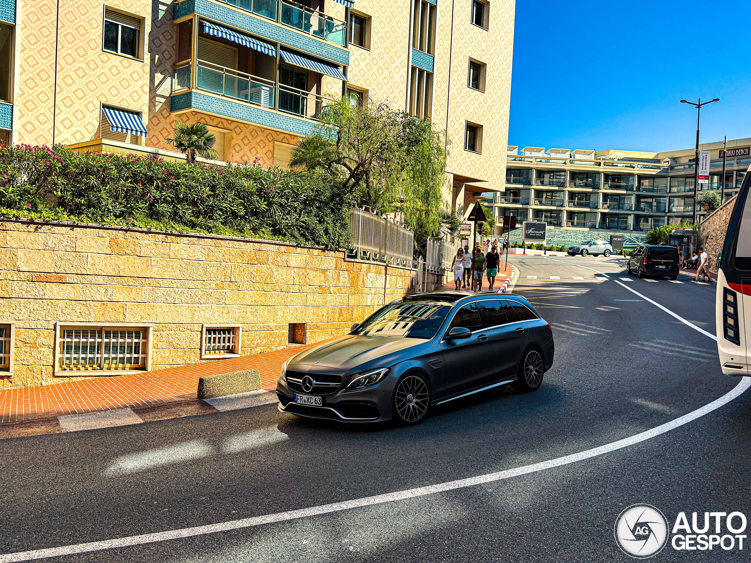
[[[517,0],[508,144],[663,151],[751,137],[751,2]]]

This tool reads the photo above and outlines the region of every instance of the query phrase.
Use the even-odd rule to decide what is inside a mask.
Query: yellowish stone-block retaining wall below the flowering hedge
[[[0,323],[15,332],[0,387],[96,375],[53,373],[56,323],[151,325],[149,368],[159,369],[211,361],[201,360],[204,324],[241,327],[243,355],[288,347],[289,323],[306,324],[306,342],[328,339],[415,278],[323,248],[20,221],[0,223],[0,256]]]

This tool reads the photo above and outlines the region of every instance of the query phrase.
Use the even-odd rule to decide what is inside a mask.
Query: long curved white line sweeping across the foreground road
[[[726,405],[731,402],[737,396],[740,396],[746,389],[751,387],[751,378],[741,378],[738,384],[733,387],[728,393],[715,399],[707,405],[701,408],[697,408],[695,411],[684,414],[682,417],[678,417],[665,424],[655,426],[653,429],[640,432],[636,435],[623,438],[622,440],[605,444],[604,446],[593,447],[590,450],[584,450],[578,453],[572,453],[569,456],[557,457],[555,459],[548,459],[544,462],[532,463],[532,465],[523,465],[513,469],[506,469],[505,471],[497,471],[496,473],[488,473],[484,475],[478,475],[477,477],[469,477],[468,479],[457,479],[454,481],[448,481],[447,483],[437,483],[436,485],[428,485],[417,487],[416,489],[406,489],[397,492],[387,492],[384,495],[374,495],[364,498],[355,498],[351,501],[333,502],[331,504],[323,504],[321,506],[301,508],[300,510],[288,510],[287,512],[278,512],[274,514],[265,514],[264,516],[252,516],[251,518],[243,518],[239,520],[231,520],[230,522],[219,522],[218,524],[207,524],[201,526],[195,526],[193,528],[182,528],[179,530],[158,531],[155,534],[142,534],[130,537],[119,537],[115,540],[101,540],[92,541],[89,543],[77,543],[71,546],[62,547],[48,547],[46,549],[33,549],[32,551],[6,553],[0,555],[0,563],[14,563],[15,561],[33,561],[34,559],[43,559],[47,557],[61,557],[62,555],[73,555],[75,553],[88,553],[92,551],[100,551],[101,549],[115,549],[126,546],[143,545],[144,543],[155,543],[159,541],[177,540],[182,537],[195,537],[206,534],[216,534],[220,531],[237,530],[241,528],[253,528],[255,526],[270,524],[273,522],[287,522],[289,520],[307,518],[309,516],[318,516],[319,514],[328,514],[332,512],[340,512],[342,510],[350,510],[352,508],[372,506],[373,504],[384,504],[386,502],[403,501],[408,498],[415,498],[425,495],[434,495],[437,492],[453,491],[456,489],[465,489],[469,486],[481,485],[484,483],[493,483],[495,481],[510,479],[511,477],[519,477],[520,475],[526,475],[530,473],[537,473],[538,471],[544,471],[561,465],[569,465],[575,462],[584,461],[584,459],[590,459],[596,456],[602,456],[605,453],[611,453],[616,450],[621,450],[624,447],[633,446],[643,441],[655,438],[665,432],[670,432],[684,424],[692,422],[699,417],[703,417],[717,408]]]

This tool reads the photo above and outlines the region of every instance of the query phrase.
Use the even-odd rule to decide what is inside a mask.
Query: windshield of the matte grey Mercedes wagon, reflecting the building
[[[359,336],[432,339],[451,306],[431,301],[392,303],[375,312],[354,330]]]

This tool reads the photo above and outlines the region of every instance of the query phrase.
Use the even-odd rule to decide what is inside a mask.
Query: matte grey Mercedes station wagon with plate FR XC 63
[[[415,424],[434,405],[511,383],[540,387],[553,330],[523,297],[461,291],[404,297],[285,363],[279,411]]]

